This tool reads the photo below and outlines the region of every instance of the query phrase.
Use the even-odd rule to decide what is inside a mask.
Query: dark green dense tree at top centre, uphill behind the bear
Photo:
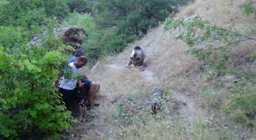
[[[174,0],[101,0],[96,8],[102,26],[118,26],[119,33],[142,36],[177,10]]]

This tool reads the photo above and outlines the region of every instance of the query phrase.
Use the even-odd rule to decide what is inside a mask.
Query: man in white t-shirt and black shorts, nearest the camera
[[[71,79],[62,78],[61,85],[59,86],[59,92],[63,94],[62,99],[65,104],[69,106],[74,100],[79,101],[79,117],[78,120],[83,119],[84,106],[86,105],[86,97],[80,92],[76,87],[76,84],[79,84],[79,88],[83,88],[85,83],[80,81],[79,75],[83,76],[83,66],[87,63],[87,59],[84,56],[78,58],[78,61],[69,63],[69,66],[72,69]]]

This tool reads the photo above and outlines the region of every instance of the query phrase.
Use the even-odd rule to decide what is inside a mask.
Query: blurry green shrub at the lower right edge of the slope
[[[224,109],[236,122],[246,123],[249,127],[255,127],[256,118],[256,91],[253,77],[242,77],[232,89],[232,95],[228,96],[229,104]]]

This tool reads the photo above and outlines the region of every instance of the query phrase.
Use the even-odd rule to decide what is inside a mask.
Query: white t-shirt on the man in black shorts
[[[77,69],[76,66],[74,65],[74,63],[69,63],[69,66],[72,68],[72,77],[76,77],[78,74],[83,74],[83,68],[79,68]],[[61,81],[61,87],[62,89],[67,89],[67,90],[73,90],[76,87],[76,82],[77,79],[70,79],[67,80],[65,79],[65,77],[62,77],[62,81]]]

